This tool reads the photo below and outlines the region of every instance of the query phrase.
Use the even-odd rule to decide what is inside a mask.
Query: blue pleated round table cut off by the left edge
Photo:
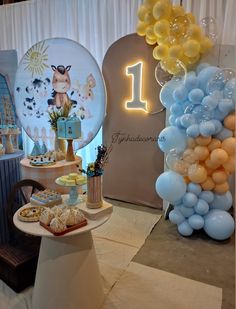
[[[16,182],[21,179],[20,160],[23,151],[0,156],[0,244],[9,239],[6,206],[9,193]]]

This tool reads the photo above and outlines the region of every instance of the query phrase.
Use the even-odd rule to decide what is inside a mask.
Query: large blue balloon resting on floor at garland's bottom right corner
[[[220,209],[212,209],[204,217],[204,230],[216,240],[225,240],[234,232],[234,220],[231,215]]]

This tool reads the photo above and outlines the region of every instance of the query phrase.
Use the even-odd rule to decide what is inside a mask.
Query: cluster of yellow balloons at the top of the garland
[[[170,74],[179,70],[176,59],[189,67],[213,46],[213,40],[204,35],[195,17],[169,0],[145,0],[138,10],[138,19],[137,34],[145,36],[147,44],[156,45],[153,57]]]

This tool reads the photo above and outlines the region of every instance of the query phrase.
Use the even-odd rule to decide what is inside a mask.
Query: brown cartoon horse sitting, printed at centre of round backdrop
[[[71,105],[76,105],[76,101],[72,101],[67,92],[71,87],[71,80],[69,71],[71,69],[71,65],[64,67],[64,65],[51,65],[53,73],[52,78],[52,86],[53,86],[53,93],[52,99],[48,100],[48,105],[56,106],[57,109],[61,109],[66,107],[70,107]]]

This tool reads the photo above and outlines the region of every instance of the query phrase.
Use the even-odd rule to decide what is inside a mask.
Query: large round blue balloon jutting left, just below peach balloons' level
[[[170,203],[182,198],[187,188],[184,178],[173,171],[162,173],[157,178],[155,187],[160,197]]]

